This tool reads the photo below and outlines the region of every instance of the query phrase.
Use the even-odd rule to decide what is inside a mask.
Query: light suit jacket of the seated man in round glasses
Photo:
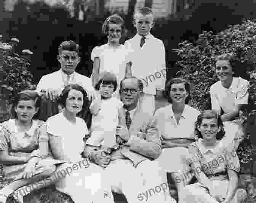
[[[125,124],[125,109],[120,111],[119,124]],[[157,159],[162,153],[160,133],[157,120],[138,107],[134,112],[130,129],[131,137],[123,146],[112,154],[113,159],[130,159],[134,167],[146,159]]]

